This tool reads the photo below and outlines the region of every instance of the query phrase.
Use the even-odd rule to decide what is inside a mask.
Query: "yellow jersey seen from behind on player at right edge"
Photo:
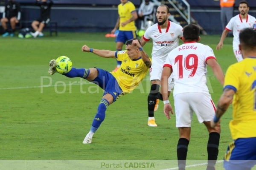
[[[231,136],[256,137],[256,57],[247,57],[227,69],[224,89],[236,93],[233,98],[233,120],[230,121]]]

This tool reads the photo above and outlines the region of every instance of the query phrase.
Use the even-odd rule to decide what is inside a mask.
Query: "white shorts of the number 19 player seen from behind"
[[[210,94],[180,93],[174,96],[176,127],[191,127],[193,111],[198,121],[211,121],[215,115],[215,105]]]

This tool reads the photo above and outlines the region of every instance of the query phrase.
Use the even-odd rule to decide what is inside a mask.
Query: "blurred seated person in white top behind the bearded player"
[[[154,3],[152,3],[150,0],[145,0],[143,3],[140,4],[140,8],[138,12],[138,15],[139,15],[138,19],[141,20],[140,30],[145,30],[147,27],[149,27],[149,26],[146,26],[146,23],[148,21],[153,21],[154,19],[153,10],[154,10]]]

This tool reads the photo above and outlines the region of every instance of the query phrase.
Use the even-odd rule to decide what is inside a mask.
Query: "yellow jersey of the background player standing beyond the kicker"
[[[120,17],[119,30],[120,31],[136,31],[135,22],[132,21],[126,24],[124,27],[121,26],[121,23],[129,20],[132,17],[132,12],[136,11],[136,8],[133,3],[127,1],[124,5],[121,3],[118,5],[118,14]]]

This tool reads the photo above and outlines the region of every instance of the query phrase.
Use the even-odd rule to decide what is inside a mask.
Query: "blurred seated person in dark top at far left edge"
[[[3,37],[14,36],[16,23],[19,23],[20,20],[20,4],[14,0],[8,0],[5,5],[5,11],[3,12],[3,18],[1,23],[4,29]],[[8,31],[7,23],[10,22],[11,31]]]

